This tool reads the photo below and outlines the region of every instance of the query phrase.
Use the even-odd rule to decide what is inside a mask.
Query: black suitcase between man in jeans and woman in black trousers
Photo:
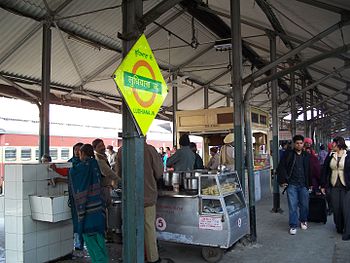
[[[326,197],[311,193],[309,197],[309,222],[327,223]]]

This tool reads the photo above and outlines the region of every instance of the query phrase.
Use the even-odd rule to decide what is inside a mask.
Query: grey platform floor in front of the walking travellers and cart
[[[288,233],[288,208],[286,197],[281,196],[284,213],[271,213],[272,198],[265,198],[256,204],[257,243],[238,242],[225,252],[222,263],[349,263],[350,241],[342,241],[336,233],[332,216],[327,224],[309,223],[308,230],[298,229],[295,236]],[[3,219],[0,220],[3,227]],[[0,230],[0,255],[3,251],[4,234]],[[119,262],[121,244],[108,244],[110,262]],[[181,244],[160,242],[160,255],[176,263],[205,262],[201,248]],[[0,262],[1,261],[0,259]],[[58,262],[90,262],[88,258],[60,260]]]

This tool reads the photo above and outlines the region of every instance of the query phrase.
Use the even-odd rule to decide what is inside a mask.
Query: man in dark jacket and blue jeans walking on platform
[[[300,227],[307,229],[309,214],[309,188],[311,187],[310,154],[303,151],[304,137],[293,137],[294,149],[286,151],[277,168],[278,183],[287,189],[289,233],[295,235]],[[298,218],[299,208],[299,218]]]

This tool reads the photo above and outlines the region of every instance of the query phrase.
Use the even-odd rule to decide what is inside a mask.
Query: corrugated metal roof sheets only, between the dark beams
[[[64,0],[49,0],[48,5],[51,10],[57,9]],[[144,1],[144,13],[147,13],[155,7],[161,0]],[[327,4],[337,5],[338,7],[350,10],[350,4],[346,0],[332,1],[331,3],[323,1]],[[340,21],[341,16],[329,10],[313,7],[299,1],[287,0],[271,0],[266,2],[269,4],[272,12],[279,20],[280,25],[291,37],[297,38],[300,41],[310,39]],[[71,52],[71,55],[76,63],[78,70],[82,76],[83,84],[86,90],[108,95],[111,97],[119,97],[115,90],[115,83],[112,81],[111,74],[120,63],[120,51],[122,49],[122,42],[117,38],[117,33],[122,31],[122,14],[121,8],[117,7],[121,4],[120,0],[101,0],[101,1],[86,1],[75,0],[70,2],[56,18],[64,18],[67,16],[78,15],[84,12],[96,11],[92,14],[79,15],[75,17],[68,17],[57,20],[58,26],[68,32],[70,35],[80,35],[85,39],[95,41],[97,46],[91,46],[85,41],[73,41],[68,39],[68,33],[62,33],[65,42]],[[6,53],[11,48],[16,46],[16,43],[23,38],[29,31],[38,25],[37,20],[41,20],[46,15],[46,7],[42,0],[2,0],[1,7],[21,13],[23,16],[15,15],[0,9],[0,28],[1,45],[0,45],[0,62]],[[103,10],[103,8],[111,8]],[[209,8],[214,11],[222,12],[226,15],[221,16],[222,20],[230,26],[229,15],[230,1],[209,1]],[[179,14],[179,15],[177,15]],[[243,22],[241,30],[244,41],[251,45],[262,59],[269,61],[269,39],[264,36],[265,31],[261,28],[265,27],[273,30],[267,16],[261,10],[259,5],[254,0],[241,1],[241,15],[242,20],[248,21],[255,26],[247,25]],[[169,18],[176,16],[170,21]],[[167,30],[172,32],[170,36],[170,65],[171,69],[177,68],[180,75],[186,75],[191,81],[197,83],[207,83],[218,74],[225,71],[225,67],[229,64],[229,52],[216,52],[214,48],[208,49],[207,52],[202,52],[208,46],[213,45],[217,36],[215,32],[210,31],[199,21],[195,20],[195,36],[199,42],[197,48],[192,48],[188,45],[192,41],[192,17],[182,10],[177,5],[171,8],[166,13],[162,14],[157,20],[157,23],[164,25]],[[259,29],[260,28],[260,29]],[[69,57],[64,43],[62,42],[57,30],[52,30],[52,81],[56,84],[77,87],[81,84],[79,75],[77,74],[74,65]],[[150,24],[145,34],[152,34],[149,37],[150,46],[154,49],[154,54],[163,68],[163,74],[168,75],[167,68],[169,64],[169,34],[163,28],[158,28],[154,23]],[[181,37],[183,40],[175,37]],[[299,45],[299,42],[290,40],[294,46]],[[185,43],[187,42],[187,44]],[[336,30],[321,42],[315,45],[318,49],[331,50],[340,47],[350,42],[350,27],[346,26],[342,29]],[[7,72],[14,76],[22,78],[34,78],[40,80],[41,78],[41,45],[42,45],[42,30],[39,28],[37,32],[14,54],[11,54],[2,64],[0,64],[1,72]],[[98,47],[101,47],[100,49]],[[289,51],[281,38],[277,38],[278,54],[284,54]],[[305,60],[322,52],[312,48],[307,48],[300,53],[300,59]],[[199,56],[200,55],[200,56]],[[349,53],[343,56],[350,57]],[[115,60],[115,61],[114,61]],[[343,66],[344,60],[339,58],[327,58],[315,63],[312,67],[319,68],[324,72],[331,72],[334,69]],[[282,63],[282,66],[288,66],[287,63]],[[251,67],[251,63],[245,62],[243,67],[243,77],[248,76],[255,71],[256,68]],[[98,72],[98,74],[95,74]],[[323,77],[317,71],[309,69],[309,73],[314,81]],[[93,76],[93,78],[91,78]],[[338,76],[339,79],[350,81],[350,72],[345,70]],[[288,77],[285,78],[289,83]],[[345,87],[345,82],[336,79],[329,79],[325,81],[326,85],[330,85],[335,90]],[[85,83],[85,80],[88,80]],[[225,93],[230,93],[231,74],[228,73],[221,78],[218,78],[211,85],[212,88],[219,91],[219,93],[209,94],[209,103],[220,99]],[[194,86],[198,85],[194,83]],[[247,87],[245,87],[246,89]],[[319,85],[318,89],[325,95],[331,95],[332,90]],[[184,98],[186,94],[190,94],[192,88],[179,87],[179,98]],[[213,91],[211,91],[213,92]],[[253,98],[252,104],[259,104],[261,101],[269,100],[269,94],[266,92],[266,86],[257,90],[259,93]],[[285,97],[285,94],[280,95]],[[203,91],[195,93],[191,99],[182,101],[179,105],[181,109],[193,109],[203,107]],[[347,98],[346,94],[337,95],[332,102],[336,103],[339,100],[343,101]],[[255,101],[254,101],[255,100]],[[171,105],[171,92],[166,99],[164,105]],[[226,99],[222,99],[215,104],[225,105]],[[270,103],[267,103],[269,105]],[[285,104],[287,105],[287,104]],[[266,105],[264,105],[266,106]]]

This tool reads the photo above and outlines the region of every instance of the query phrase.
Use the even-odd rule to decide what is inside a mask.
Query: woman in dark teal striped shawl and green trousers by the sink
[[[84,144],[79,155],[80,162],[69,171],[77,231],[83,235],[92,262],[108,262],[101,172],[91,144]]]

